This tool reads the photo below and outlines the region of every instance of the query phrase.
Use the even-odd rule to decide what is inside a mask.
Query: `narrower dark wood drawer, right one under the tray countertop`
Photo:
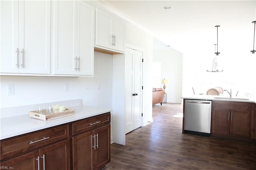
[[[110,124],[110,112],[72,123],[73,135]]]

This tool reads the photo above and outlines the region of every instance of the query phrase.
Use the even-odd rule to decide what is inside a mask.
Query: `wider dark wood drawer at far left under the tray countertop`
[[[1,141],[1,160],[69,137],[69,125]]]

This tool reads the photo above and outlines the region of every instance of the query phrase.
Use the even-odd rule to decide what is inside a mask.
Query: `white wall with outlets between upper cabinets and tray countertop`
[[[82,99],[82,105],[112,108],[112,55],[94,53],[94,77],[0,78],[1,108],[70,99]],[[64,91],[64,83],[69,83],[69,91]],[[86,83],[89,89],[86,89]],[[14,84],[15,95],[7,95],[8,84]]]

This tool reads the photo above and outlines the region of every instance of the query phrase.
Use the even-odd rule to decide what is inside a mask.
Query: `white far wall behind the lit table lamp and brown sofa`
[[[161,77],[168,79],[165,92],[167,93],[167,102],[181,103],[182,99],[182,53],[172,47],[166,47],[166,44],[154,38],[153,61],[161,63]]]

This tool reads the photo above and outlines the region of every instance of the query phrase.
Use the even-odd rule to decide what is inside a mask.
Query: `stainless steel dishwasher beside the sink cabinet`
[[[185,100],[184,133],[211,136],[212,101]]]

